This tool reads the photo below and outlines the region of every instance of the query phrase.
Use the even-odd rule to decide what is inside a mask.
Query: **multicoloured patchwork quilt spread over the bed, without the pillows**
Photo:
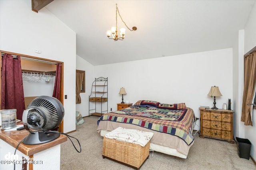
[[[192,136],[192,123],[194,111],[186,109],[162,109],[156,107],[131,106],[119,111],[105,113],[98,119],[100,121],[114,121],[130,123],[180,137],[187,145],[194,141]]]

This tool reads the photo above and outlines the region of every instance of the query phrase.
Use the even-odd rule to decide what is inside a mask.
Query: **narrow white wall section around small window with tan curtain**
[[[94,81],[94,66],[80,56],[76,55],[76,69],[85,71],[85,93],[80,93],[81,103],[76,104],[76,111],[79,111],[83,117],[89,115],[89,96]]]

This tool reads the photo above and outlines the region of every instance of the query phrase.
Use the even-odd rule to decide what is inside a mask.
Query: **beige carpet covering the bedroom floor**
[[[82,125],[76,126],[76,132],[69,135],[76,137],[82,152],[78,153],[68,140],[61,144],[61,170],[131,170],[132,168],[102,158],[103,137],[96,131],[98,116],[84,118]],[[141,170],[256,170],[253,161],[239,158],[236,144],[216,139],[194,136],[194,145],[188,158],[150,152],[150,157]],[[74,141],[74,140],[73,140]],[[76,145],[78,147],[78,145]]]

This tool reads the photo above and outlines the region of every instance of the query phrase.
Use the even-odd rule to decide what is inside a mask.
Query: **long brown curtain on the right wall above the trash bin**
[[[244,57],[244,94],[241,121],[252,125],[252,104],[256,83],[256,51]]]

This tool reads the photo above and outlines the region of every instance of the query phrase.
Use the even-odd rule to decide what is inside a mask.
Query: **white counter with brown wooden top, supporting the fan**
[[[19,124],[21,124],[21,122]],[[14,150],[18,143],[28,134],[29,132],[25,129],[21,131],[0,131],[1,170],[13,169],[13,165],[8,165],[7,161],[13,158]],[[26,160],[41,161],[28,164],[25,169],[28,168],[29,170],[33,170],[33,165],[35,166],[34,169],[48,169],[48,167],[51,167],[51,169],[59,169],[60,164],[58,164],[58,162],[60,162],[60,144],[65,141],[67,141],[67,137],[65,135],[60,135],[58,139],[48,143],[38,145],[24,145],[23,143],[20,143],[16,154],[18,155],[19,160],[22,160],[21,158],[24,157]],[[45,155],[46,152],[47,155]],[[24,164],[16,164],[16,169],[22,168],[24,168]]]

